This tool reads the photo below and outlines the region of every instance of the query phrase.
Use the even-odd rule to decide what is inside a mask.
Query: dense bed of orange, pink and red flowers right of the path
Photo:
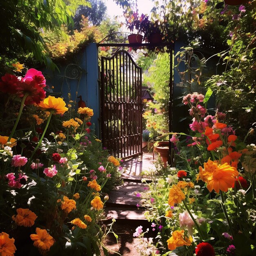
[[[208,99],[199,93],[183,98],[192,123],[189,135],[171,138],[176,167],[137,194],[155,232],[148,240],[142,226],[136,229],[146,248],[141,255],[256,253],[256,146],[246,144],[254,129],[239,137],[225,113],[208,114]]]

